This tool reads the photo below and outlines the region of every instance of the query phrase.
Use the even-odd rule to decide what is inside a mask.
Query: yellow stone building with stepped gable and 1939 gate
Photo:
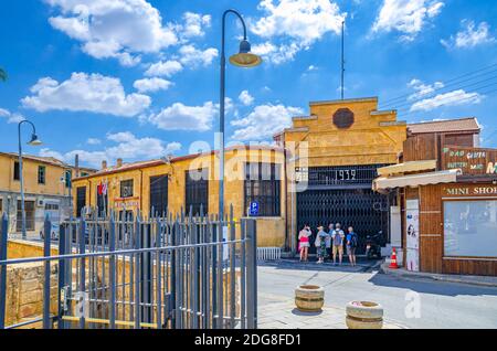
[[[309,224],[352,225],[361,247],[366,235],[389,233],[387,198],[371,190],[377,169],[398,162],[406,139],[395,110],[378,110],[378,98],[310,103],[309,116],[275,136],[287,150],[286,246],[296,248],[297,232]],[[384,237],[385,242],[389,237]]]

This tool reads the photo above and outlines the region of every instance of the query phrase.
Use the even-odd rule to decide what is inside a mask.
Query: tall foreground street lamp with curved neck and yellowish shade
[[[224,104],[226,86],[226,56],[225,56],[225,29],[229,13],[235,14],[243,25],[243,40],[240,43],[237,54],[230,57],[230,63],[237,67],[251,68],[258,66],[262,59],[251,53],[251,44],[246,40],[246,25],[242,15],[236,10],[226,10],[223,13],[222,42],[221,42],[221,99],[220,99],[220,180],[219,180],[219,215],[220,223],[224,219]]]

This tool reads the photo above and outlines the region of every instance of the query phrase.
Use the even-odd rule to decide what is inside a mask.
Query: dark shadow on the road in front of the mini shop
[[[370,283],[390,288],[399,289],[410,289],[420,294],[432,294],[432,295],[443,295],[443,296],[497,296],[497,288],[484,287],[484,286],[470,286],[459,283],[448,283],[448,281],[436,281],[430,278],[403,278],[395,277],[392,275],[377,273],[374,274]]]

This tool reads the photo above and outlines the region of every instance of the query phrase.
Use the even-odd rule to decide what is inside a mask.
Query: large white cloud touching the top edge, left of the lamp
[[[60,13],[53,28],[82,42],[96,59],[116,57],[134,65],[133,54],[158,53],[178,43],[173,25],[162,25],[160,12],[146,0],[44,0]]]

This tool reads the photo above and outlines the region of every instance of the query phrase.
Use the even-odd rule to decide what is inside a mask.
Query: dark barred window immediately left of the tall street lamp
[[[187,171],[186,177],[186,212],[192,209],[194,215],[200,214],[202,206],[209,213],[209,169]]]

